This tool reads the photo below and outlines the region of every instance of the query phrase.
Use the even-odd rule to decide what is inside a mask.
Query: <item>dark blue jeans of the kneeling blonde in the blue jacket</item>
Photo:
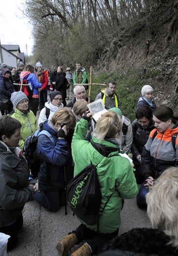
[[[51,212],[56,212],[60,209],[60,192],[36,192],[34,200],[44,208]]]

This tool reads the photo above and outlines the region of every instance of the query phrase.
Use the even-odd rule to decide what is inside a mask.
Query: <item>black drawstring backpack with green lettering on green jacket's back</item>
[[[69,207],[79,219],[88,225],[94,225],[98,222],[111,195],[100,211],[102,193],[100,191],[97,168],[93,164],[80,171],[67,186]]]

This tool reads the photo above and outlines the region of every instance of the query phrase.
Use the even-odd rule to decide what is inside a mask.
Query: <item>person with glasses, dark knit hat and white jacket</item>
[[[59,109],[64,107],[62,103],[62,94],[59,91],[54,91],[50,95],[50,101],[45,103],[45,107],[41,110],[38,119],[38,126],[46,120],[51,120],[53,114]]]

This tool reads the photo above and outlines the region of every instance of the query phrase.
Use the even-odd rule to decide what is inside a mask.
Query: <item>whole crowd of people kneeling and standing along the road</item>
[[[136,119],[130,122],[121,111],[116,83],[108,81],[95,98],[102,99],[107,111],[95,122],[93,113],[88,111],[87,72],[81,63],[76,63],[74,73],[70,67],[64,71],[55,64],[51,70],[45,69],[40,62],[35,69],[22,62],[18,70],[2,66],[0,232],[11,236],[7,249],[17,245],[25,203],[34,199],[47,210],[58,211],[66,205],[66,186],[92,163],[97,166],[101,209],[110,196],[109,201],[97,224],[88,225],[79,219],[81,224],[76,230],[69,230],[58,241],[60,255],[66,256],[81,242],[83,245],[72,256],[125,255],[126,251],[127,255],[149,252],[166,256],[163,249],[169,255],[177,255],[178,117],[168,106],[156,107],[153,87],[142,87],[135,106]],[[31,90],[30,96],[21,90],[24,81]],[[37,160],[27,161],[25,139],[37,129],[46,133],[38,137]],[[136,227],[118,236],[124,199],[134,197],[138,207],[147,208],[153,229]],[[143,244],[148,235],[153,237],[150,251],[147,245],[144,249],[128,243],[137,239]],[[162,244],[158,246],[159,236]]]

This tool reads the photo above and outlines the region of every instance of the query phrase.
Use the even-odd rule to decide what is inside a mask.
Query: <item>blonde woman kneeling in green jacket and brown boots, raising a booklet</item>
[[[77,229],[57,243],[56,249],[62,256],[66,256],[75,244],[83,240],[85,243],[72,256],[98,254],[106,242],[118,235],[124,199],[133,198],[138,192],[130,162],[120,155],[117,135],[122,129],[121,118],[112,111],[104,113],[89,142],[85,140],[85,135],[91,115],[86,112],[76,124],[72,140],[74,175],[92,163],[97,166],[102,193],[100,210],[111,197],[102,211],[98,225],[87,225],[79,220],[81,224]]]

